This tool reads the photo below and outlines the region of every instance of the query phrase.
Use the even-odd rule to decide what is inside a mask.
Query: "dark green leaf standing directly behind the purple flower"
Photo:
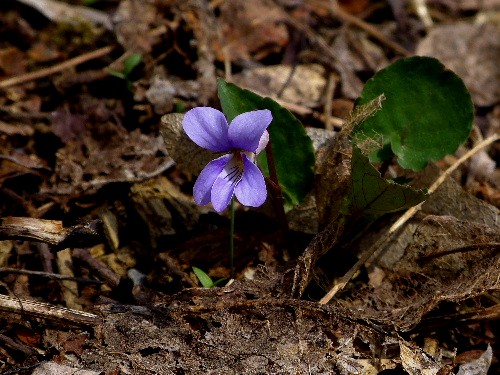
[[[273,122],[268,128],[276,163],[278,180],[287,206],[302,201],[312,187],[314,149],[302,123],[287,109],[270,98],[263,98],[222,79],[218,81],[222,111],[228,121],[241,113],[257,109],[269,109]],[[265,152],[258,163],[269,176]]]

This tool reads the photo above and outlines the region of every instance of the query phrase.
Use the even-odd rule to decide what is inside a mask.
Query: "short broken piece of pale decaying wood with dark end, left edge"
[[[92,246],[103,240],[100,226],[99,220],[64,227],[59,220],[4,217],[0,218],[0,239],[46,242],[55,249]]]

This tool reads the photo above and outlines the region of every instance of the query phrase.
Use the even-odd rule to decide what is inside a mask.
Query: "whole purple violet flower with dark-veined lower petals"
[[[242,113],[231,125],[214,108],[197,107],[186,113],[182,126],[189,138],[207,150],[225,153],[208,163],[198,176],[193,188],[197,204],[212,202],[214,209],[222,212],[233,195],[245,206],[264,204],[266,183],[255,158],[269,142],[266,129],[272,120],[267,109]]]

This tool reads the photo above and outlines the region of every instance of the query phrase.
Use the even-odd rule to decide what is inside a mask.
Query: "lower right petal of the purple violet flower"
[[[234,193],[244,206],[259,207],[267,198],[266,182],[260,169],[243,155],[245,172]]]

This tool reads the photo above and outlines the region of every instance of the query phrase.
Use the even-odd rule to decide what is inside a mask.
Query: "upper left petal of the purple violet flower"
[[[182,126],[189,138],[200,147],[215,152],[231,149],[226,117],[215,108],[196,107],[187,111]]]

